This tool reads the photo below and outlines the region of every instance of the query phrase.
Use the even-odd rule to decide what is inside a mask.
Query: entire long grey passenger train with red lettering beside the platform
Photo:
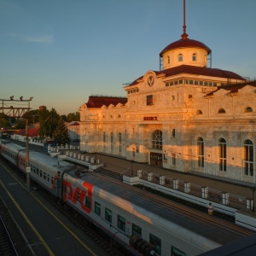
[[[25,148],[0,141],[0,152],[26,173]],[[198,255],[241,237],[176,212],[147,191],[64,160],[32,150],[29,159],[32,180],[134,255]]]

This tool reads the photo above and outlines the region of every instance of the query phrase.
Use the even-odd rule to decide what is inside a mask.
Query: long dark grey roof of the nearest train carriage
[[[72,177],[76,177],[75,172],[68,172]],[[234,232],[232,230],[224,229],[222,224],[214,224],[218,218],[211,216],[212,221],[205,222],[203,219],[193,218],[194,215],[189,213],[191,208],[184,207],[183,212],[177,211],[174,207],[168,207],[160,203],[160,201],[152,201],[149,198],[151,193],[142,193],[141,189],[132,187],[131,185],[119,182],[112,183],[110,179],[103,178],[99,174],[87,172],[86,174],[80,174],[80,180],[86,181],[94,185],[95,191],[98,189],[103,189],[109,194],[118,196],[122,200],[126,201],[126,205],[133,205],[132,207],[138,212],[141,212],[144,216],[148,218],[162,218],[164,220],[170,221],[173,224],[183,227],[186,230],[190,230],[200,236],[206,237],[211,241],[215,241],[218,244],[226,244],[236,239],[240,239],[246,235],[241,235],[239,232]],[[79,179],[77,180],[79,182]],[[102,191],[101,191],[102,193]],[[136,207],[135,207],[136,206]],[[187,210],[186,210],[187,208]],[[196,211],[193,209],[193,211]],[[188,213],[187,213],[188,212]],[[199,211],[198,211],[199,213]],[[154,215],[154,216],[153,216]],[[164,222],[163,220],[163,222]],[[252,231],[253,233],[253,231]]]

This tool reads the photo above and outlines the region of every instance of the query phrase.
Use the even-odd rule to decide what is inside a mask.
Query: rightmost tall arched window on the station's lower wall
[[[253,176],[253,142],[246,140],[243,144],[243,155],[244,155],[244,174],[248,176]]]

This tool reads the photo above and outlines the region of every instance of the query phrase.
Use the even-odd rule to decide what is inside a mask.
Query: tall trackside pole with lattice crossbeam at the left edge
[[[14,96],[10,96],[9,100],[0,99],[2,105],[0,106],[0,111],[9,118],[25,118],[26,119],[26,188],[27,192],[30,192],[30,163],[29,163],[29,143],[28,143],[28,116],[25,114],[29,113],[30,102],[33,97],[28,100],[23,100],[23,96],[20,96],[20,100],[15,100]],[[20,102],[24,107],[16,108],[15,104],[20,106]],[[25,115],[25,117],[24,117]],[[4,117],[3,117],[4,118]]]

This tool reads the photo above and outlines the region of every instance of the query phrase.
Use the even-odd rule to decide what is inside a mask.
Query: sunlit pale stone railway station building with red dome
[[[208,67],[211,49],[189,39],[160,51],[126,97],[90,96],[79,108],[80,148],[255,183],[256,82]]]

